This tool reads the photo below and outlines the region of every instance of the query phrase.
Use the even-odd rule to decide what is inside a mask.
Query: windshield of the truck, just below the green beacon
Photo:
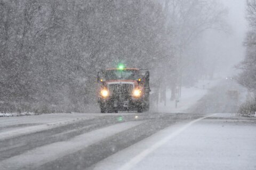
[[[108,70],[106,80],[137,80],[138,70]]]

